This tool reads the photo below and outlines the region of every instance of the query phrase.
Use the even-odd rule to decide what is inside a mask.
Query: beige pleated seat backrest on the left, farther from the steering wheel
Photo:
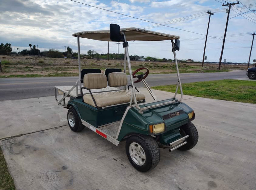
[[[88,73],[83,76],[83,87],[99,89],[107,87],[107,77],[101,73]]]

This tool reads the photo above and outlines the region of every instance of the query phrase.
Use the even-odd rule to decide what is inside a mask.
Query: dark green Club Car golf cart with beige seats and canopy
[[[120,29],[116,24],[110,24],[110,30],[78,32],[73,36],[77,37],[78,44],[79,79],[73,87],[55,87],[56,101],[68,109],[67,120],[72,131],[82,131],[86,126],[116,146],[126,140],[130,163],[143,172],[159,163],[159,148],[168,148],[171,152],[175,149],[190,150],[197,144],[198,132],[191,123],[195,118],[194,111],[181,102],[183,93],[176,58],[179,36],[139,28]],[[99,69],[81,70],[79,38],[123,42],[123,72],[116,68],[106,69],[104,74]],[[145,81],[149,74],[146,67],[132,72],[128,52],[130,40],[171,40],[178,78],[174,97],[164,100],[156,98]],[[146,72],[136,74],[141,70]],[[136,81],[133,81],[134,78]],[[143,82],[153,102],[146,102],[145,95],[135,87],[137,82]],[[181,91],[179,99],[176,98],[178,88]],[[58,92],[63,94],[60,100],[57,99]],[[67,103],[66,97],[70,97]]]

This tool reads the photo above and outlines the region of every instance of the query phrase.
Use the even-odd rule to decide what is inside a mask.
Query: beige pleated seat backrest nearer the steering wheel
[[[109,86],[121,87],[127,85],[126,73],[109,73]]]

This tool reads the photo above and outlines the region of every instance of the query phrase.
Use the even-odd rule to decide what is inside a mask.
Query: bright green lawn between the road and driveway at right
[[[176,85],[157,86],[152,88],[160,91],[175,92]],[[182,84],[182,90],[185,95],[235,102],[256,103],[256,81],[225,79],[192,82]]]

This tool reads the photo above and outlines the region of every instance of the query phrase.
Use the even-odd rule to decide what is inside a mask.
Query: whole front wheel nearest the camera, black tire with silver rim
[[[131,136],[126,140],[125,149],[130,163],[138,171],[149,171],[160,161],[160,149],[151,136]]]

